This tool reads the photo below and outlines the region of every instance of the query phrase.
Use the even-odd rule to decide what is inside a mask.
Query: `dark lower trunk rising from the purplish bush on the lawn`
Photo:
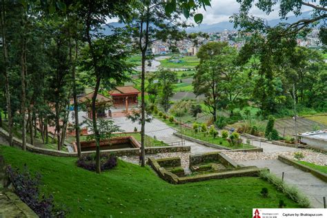
[[[99,75],[97,75],[97,82],[95,84],[95,92],[93,93],[93,96],[92,96],[92,123],[93,123],[93,130],[94,130],[93,134],[95,135],[95,144],[96,144],[96,148],[97,148],[96,157],[95,157],[97,173],[101,172],[101,166],[100,166],[100,135],[99,135],[99,130],[97,128],[97,108],[96,108],[95,103],[97,100],[100,81],[101,81],[101,78],[99,77]]]

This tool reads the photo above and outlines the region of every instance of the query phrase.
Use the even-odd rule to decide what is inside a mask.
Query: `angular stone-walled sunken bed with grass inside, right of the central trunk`
[[[161,179],[171,184],[186,184],[188,182],[229,177],[257,177],[262,170],[255,166],[244,167],[237,165],[232,159],[219,152],[190,155],[189,168],[192,173],[187,173],[181,167],[181,159],[179,157],[166,159],[149,157],[148,164],[157,172]]]

